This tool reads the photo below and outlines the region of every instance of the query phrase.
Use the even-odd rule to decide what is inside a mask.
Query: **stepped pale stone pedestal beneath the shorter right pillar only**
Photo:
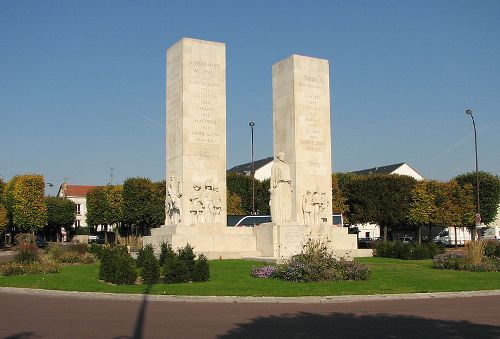
[[[297,223],[265,223],[253,228],[257,250],[262,257],[276,261],[290,258],[304,249],[308,240],[319,240],[329,252],[340,259],[371,257],[371,249],[358,249],[355,234],[347,228],[327,224],[300,225]]]

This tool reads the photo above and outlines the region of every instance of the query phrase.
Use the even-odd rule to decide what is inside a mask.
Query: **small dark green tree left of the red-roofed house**
[[[56,232],[59,241],[61,227],[70,227],[75,223],[76,205],[73,201],[61,197],[46,197],[47,224],[49,231]]]

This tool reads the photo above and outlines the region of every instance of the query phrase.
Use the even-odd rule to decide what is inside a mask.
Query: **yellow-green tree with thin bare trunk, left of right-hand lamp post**
[[[408,222],[417,227],[418,243],[422,243],[422,226],[430,225],[435,214],[435,196],[429,189],[429,183],[419,181],[411,191],[411,203]]]

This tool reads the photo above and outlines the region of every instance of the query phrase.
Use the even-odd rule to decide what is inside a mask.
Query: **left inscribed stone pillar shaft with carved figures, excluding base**
[[[179,206],[169,206],[167,189],[167,212],[178,215],[167,213],[165,224],[225,226],[225,44],[182,38],[167,50],[166,139]]]

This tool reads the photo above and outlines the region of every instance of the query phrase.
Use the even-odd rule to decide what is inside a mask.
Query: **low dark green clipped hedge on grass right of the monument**
[[[417,245],[386,241],[375,244],[375,255],[378,257],[420,260],[431,259],[440,253],[444,253],[444,247],[435,243]]]

